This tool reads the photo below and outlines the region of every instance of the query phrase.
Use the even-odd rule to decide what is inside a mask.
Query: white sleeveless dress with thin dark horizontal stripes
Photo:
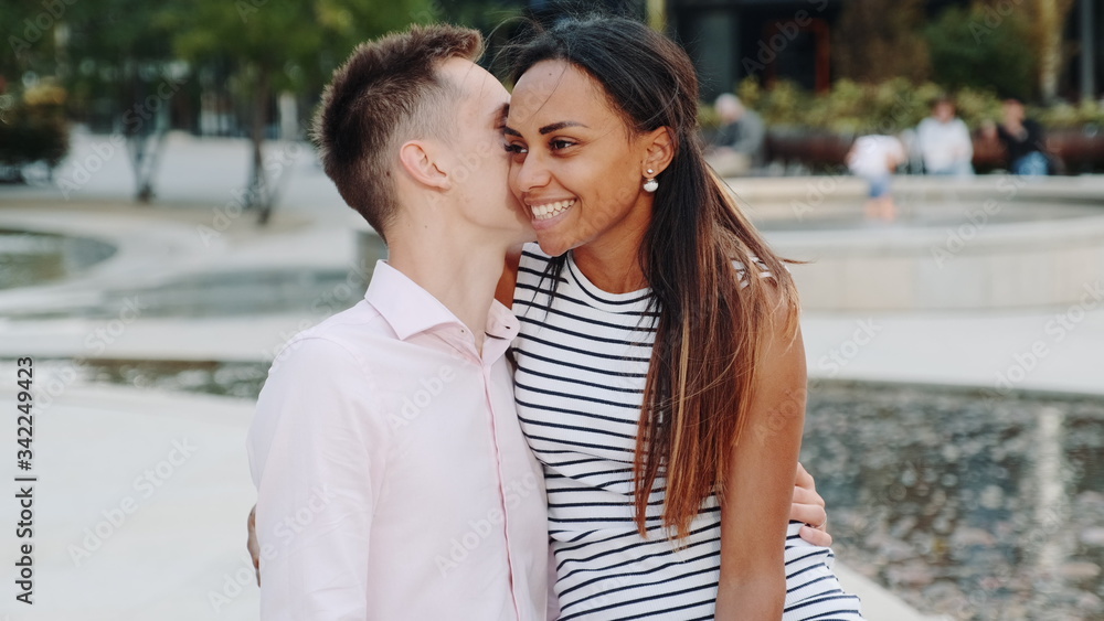
[[[524,248],[513,310],[518,417],[544,470],[561,621],[713,618],[721,563],[721,510],[707,499],[676,544],[661,524],[657,480],[647,534],[634,522],[633,459],[657,314],[647,290],[607,293],[569,254],[553,283],[549,257]],[[555,298],[549,296],[555,285]],[[548,307],[548,308],[545,308]],[[831,571],[829,548],[789,525],[784,621],[861,620],[859,599]]]

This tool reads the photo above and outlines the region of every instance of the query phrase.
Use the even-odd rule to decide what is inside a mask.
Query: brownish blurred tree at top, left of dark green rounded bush
[[[924,0],[851,0],[832,30],[832,77],[881,83],[928,76]]]

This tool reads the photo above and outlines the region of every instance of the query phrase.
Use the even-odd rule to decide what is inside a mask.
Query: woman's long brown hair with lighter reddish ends
[[[569,62],[597,79],[635,131],[667,127],[676,142],[670,167],[657,178],[640,248],[659,324],[637,435],[634,500],[644,535],[652,491],[666,481],[662,523],[683,537],[705,499],[723,499],[763,334],[778,328],[779,308],[782,328],[796,329],[796,288],[783,259],[705,163],[698,78],[681,47],[629,19],[570,18],[537,29],[512,50],[513,78],[545,60]],[[550,270],[562,266],[558,257]],[[773,278],[761,278],[764,270]]]

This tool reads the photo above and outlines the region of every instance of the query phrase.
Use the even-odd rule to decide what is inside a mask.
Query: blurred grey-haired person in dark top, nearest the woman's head
[[[710,141],[708,160],[713,170],[721,176],[736,176],[762,168],[766,144],[763,117],[731,93],[718,97],[713,108],[721,121]]]

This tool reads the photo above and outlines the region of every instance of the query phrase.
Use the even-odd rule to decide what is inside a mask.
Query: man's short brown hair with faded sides
[[[397,210],[391,167],[402,142],[448,131],[443,110],[458,94],[438,75],[453,57],[476,61],[478,31],[413,25],[361,43],[322,94],[314,139],[326,174],[349,205],[380,234]]]

